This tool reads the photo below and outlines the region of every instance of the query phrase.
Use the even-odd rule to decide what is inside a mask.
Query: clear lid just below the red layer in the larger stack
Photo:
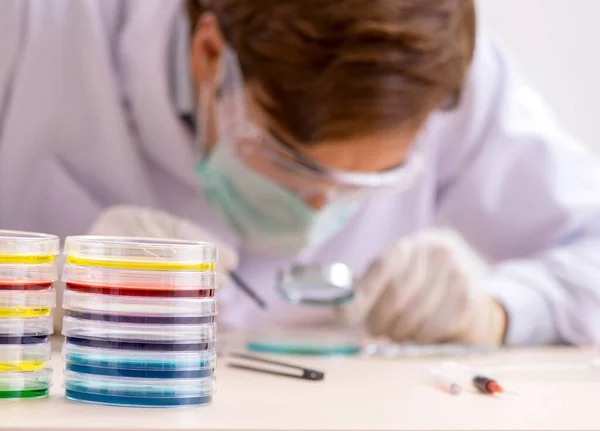
[[[143,317],[207,317],[217,313],[214,298],[146,298],[94,295],[66,290],[63,308],[91,314]]]

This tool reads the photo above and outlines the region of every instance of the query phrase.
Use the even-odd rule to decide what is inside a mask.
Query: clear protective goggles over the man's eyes
[[[223,66],[213,111],[219,145],[227,146],[230,154],[302,199],[328,202],[355,199],[374,190],[401,192],[421,173],[422,158],[416,151],[402,165],[372,173],[334,169],[311,160],[249,119],[248,96],[237,57],[230,49],[225,50]],[[210,117],[206,108],[201,110],[202,118]]]

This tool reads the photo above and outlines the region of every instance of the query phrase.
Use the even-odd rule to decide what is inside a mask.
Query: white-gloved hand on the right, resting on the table
[[[368,268],[337,317],[397,342],[501,344],[506,312],[465,256],[443,231],[402,239]]]

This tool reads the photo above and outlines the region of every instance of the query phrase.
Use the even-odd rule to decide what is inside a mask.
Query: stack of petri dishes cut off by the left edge
[[[53,235],[0,230],[0,400],[50,392],[59,248]]]

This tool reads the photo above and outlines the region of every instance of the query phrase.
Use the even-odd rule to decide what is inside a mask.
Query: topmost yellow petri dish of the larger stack
[[[218,260],[215,244],[150,238],[71,236],[64,252],[78,266],[152,271],[214,271]]]

